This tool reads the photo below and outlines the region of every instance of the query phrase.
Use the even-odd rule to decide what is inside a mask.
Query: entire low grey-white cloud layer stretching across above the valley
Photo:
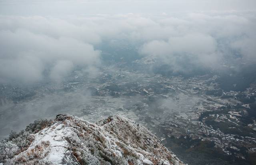
[[[124,40],[142,57],[154,56],[176,72],[256,62],[253,11],[0,16],[0,81],[37,82],[49,72],[59,82],[75,66],[100,73],[99,44]],[[99,50],[96,50],[96,47]],[[122,56],[122,55],[120,55]]]

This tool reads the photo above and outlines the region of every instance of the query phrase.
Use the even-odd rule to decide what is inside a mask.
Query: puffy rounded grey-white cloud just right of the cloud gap
[[[184,72],[183,68],[188,64],[216,68],[221,59],[221,54],[216,52],[216,46],[212,36],[188,34],[171,37],[168,41],[148,42],[141,47],[140,53],[145,56],[153,55],[177,72]]]

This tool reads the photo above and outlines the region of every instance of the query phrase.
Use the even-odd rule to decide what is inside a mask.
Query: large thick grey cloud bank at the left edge
[[[88,32],[79,32],[77,28],[66,30],[66,26],[61,27],[62,24],[59,27],[61,32],[58,32],[54,25],[58,24],[58,21],[49,23],[45,21],[46,18],[41,17],[22,18],[24,21],[20,21],[18,18],[1,18],[3,23],[0,27],[2,82],[13,80],[25,83],[37,82],[43,79],[44,70],[51,70],[51,78],[60,79],[65,75],[64,72],[72,70],[73,65],[96,67],[100,64],[100,51],[95,50],[94,46],[88,43],[99,41],[92,36],[85,37],[86,39],[82,37],[87,36]],[[38,24],[42,20],[44,23]],[[60,76],[56,75],[58,73]]]

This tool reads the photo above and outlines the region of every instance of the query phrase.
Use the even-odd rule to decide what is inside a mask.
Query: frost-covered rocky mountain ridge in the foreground
[[[34,134],[30,131],[33,140],[25,150],[17,152],[12,140],[2,145],[4,153],[11,149],[15,154],[2,156],[0,161],[41,165],[183,165],[148,129],[124,117],[112,116],[90,123],[70,115],[57,115],[49,123]]]

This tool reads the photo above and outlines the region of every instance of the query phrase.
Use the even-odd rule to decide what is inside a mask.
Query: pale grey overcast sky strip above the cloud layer
[[[255,10],[256,0],[0,0],[0,14],[59,16]]]

